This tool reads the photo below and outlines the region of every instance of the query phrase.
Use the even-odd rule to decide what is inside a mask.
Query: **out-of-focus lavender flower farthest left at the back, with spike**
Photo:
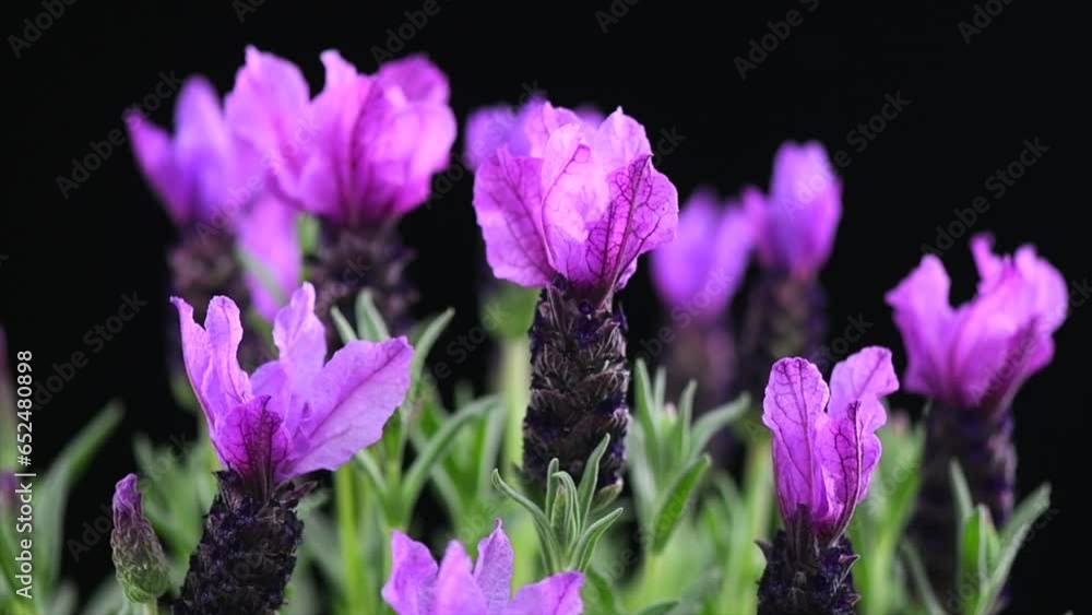
[[[228,295],[272,319],[284,303],[280,297],[299,283],[294,216],[264,190],[263,167],[212,85],[200,76],[182,85],[174,137],[135,113],[127,126],[136,162],[181,230],[170,253],[176,291],[202,307],[214,295]],[[242,248],[269,270],[268,282],[245,271],[236,257],[239,236],[250,238]]]

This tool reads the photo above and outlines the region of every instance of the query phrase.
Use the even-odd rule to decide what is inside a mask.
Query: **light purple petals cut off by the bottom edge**
[[[397,615],[579,615],[580,572],[560,572],[512,592],[512,545],[500,519],[478,543],[477,563],[452,541],[437,566],[428,547],[394,531],[383,600]]]

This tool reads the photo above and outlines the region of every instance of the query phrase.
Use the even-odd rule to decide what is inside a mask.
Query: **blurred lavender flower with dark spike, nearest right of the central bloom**
[[[721,210],[716,196],[702,190],[682,209],[675,241],[652,252],[652,281],[675,334],[667,358],[672,397],[695,380],[701,410],[724,403],[734,385],[735,336],[726,311],[747,269],[752,237],[737,202]]]

